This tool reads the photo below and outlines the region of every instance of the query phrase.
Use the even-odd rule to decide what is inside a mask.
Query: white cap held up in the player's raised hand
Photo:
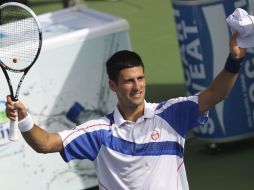
[[[254,16],[237,8],[226,19],[231,32],[237,31],[237,43],[242,48],[254,47]]]

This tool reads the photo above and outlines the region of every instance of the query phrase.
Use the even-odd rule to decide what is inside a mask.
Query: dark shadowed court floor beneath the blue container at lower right
[[[185,144],[185,167],[190,189],[252,190],[254,138],[218,144],[191,138]]]

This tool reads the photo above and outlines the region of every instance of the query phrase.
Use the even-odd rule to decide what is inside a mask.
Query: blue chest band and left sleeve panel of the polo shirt
[[[66,162],[73,159],[93,161],[102,145],[132,156],[177,155],[183,157],[183,147],[177,142],[163,141],[137,144],[114,137],[107,130],[84,133],[66,145],[60,154]]]

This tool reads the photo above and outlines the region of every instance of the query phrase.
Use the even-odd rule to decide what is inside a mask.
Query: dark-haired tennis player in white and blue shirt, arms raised
[[[118,97],[114,111],[71,130],[48,133],[34,124],[21,101],[7,97],[7,116],[39,153],[60,152],[64,161],[91,160],[100,189],[188,190],[184,142],[189,129],[207,122],[207,111],[235,84],[246,49],[230,40],[224,69],[198,95],[161,103],[145,101],[144,65],[138,54],[119,51],[107,61],[109,86]]]

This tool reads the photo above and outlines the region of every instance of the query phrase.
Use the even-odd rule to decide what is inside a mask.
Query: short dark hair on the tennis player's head
[[[139,66],[144,68],[141,57],[137,53],[129,50],[116,52],[106,62],[108,78],[115,82],[121,70]]]

